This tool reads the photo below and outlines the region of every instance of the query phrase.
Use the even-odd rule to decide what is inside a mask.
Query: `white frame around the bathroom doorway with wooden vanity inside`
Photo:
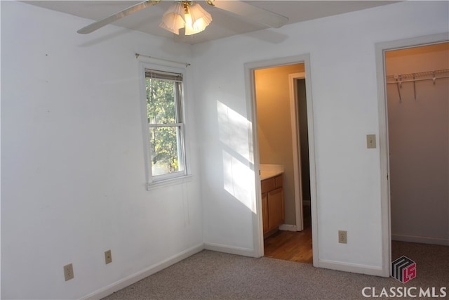
[[[315,162],[315,142],[314,142],[314,116],[311,96],[310,79],[310,56],[309,53],[299,56],[290,56],[286,58],[274,58],[261,60],[253,63],[246,63],[245,81],[246,81],[246,106],[250,112],[248,120],[248,133],[250,136],[250,157],[253,158],[253,171],[255,180],[254,203],[253,203],[253,247],[255,257],[264,255],[264,237],[262,226],[262,193],[260,191],[260,157],[259,141],[257,135],[257,106],[255,99],[255,78],[254,71],[267,67],[280,67],[283,65],[293,65],[297,63],[304,64],[306,97],[307,97],[307,126],[309,133],[309,169],[310,169],[310,193],[311,193],[311,223],[312,223],[312,244],[314,266],[318,266],[319,242],[318,242],[318,214],[316,197],[316,162]]]

